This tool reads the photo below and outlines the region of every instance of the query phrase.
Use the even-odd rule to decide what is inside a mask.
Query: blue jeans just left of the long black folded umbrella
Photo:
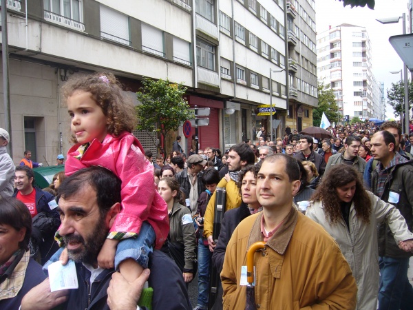
[[[212,252],[204,245],[203,238],[198,240],[198,307],[208,309],[209,275]]]

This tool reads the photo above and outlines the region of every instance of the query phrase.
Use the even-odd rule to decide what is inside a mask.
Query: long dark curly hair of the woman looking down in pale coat
[[[372,212],[372,203],[363,186],[363,181],[359,173],[349,165],[340,164],[331,167],[324,176],[321,184],[315,190],[312,200],[322,200],[326,220],[330,220],[330,225],[337,223],[341,218],[341,206],[339,196],[337,196],[337,187],[348,185],[356,181],[356,191],[352,199],[357,218],[364,223],[370,223],[370,214]]]

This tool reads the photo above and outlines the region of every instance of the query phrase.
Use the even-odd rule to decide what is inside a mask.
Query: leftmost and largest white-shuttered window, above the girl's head
[[[100,37],[130,45],[128,17],[107,6],[100,6]]]

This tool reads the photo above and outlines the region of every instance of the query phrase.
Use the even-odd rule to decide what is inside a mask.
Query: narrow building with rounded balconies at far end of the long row
[[[287,124],[300,132],[313,126],[317,107],[315,1],[288,0],[288,113]]]

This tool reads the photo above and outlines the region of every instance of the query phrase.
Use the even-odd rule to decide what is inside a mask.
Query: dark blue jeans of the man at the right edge
[[[409,258],[381,256],[379,310],[412,309],[413,288],[407,278]]]

